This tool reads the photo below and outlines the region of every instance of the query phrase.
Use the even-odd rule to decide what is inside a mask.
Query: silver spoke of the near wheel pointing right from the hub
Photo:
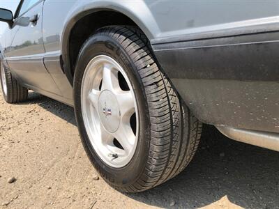
[[[121,93],[116,94],[116,98],[119,102],[121,121],[128,122],[130,120],[130,116],[135,113],[133,94],[131,91],[121,91]]]

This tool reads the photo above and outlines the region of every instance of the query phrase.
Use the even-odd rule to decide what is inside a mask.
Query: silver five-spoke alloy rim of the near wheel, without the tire
[[[82,117],[93,149],[111,167],[124,167],[135,153],[139,124],[126,72],[110,56],[96,56],[86,66],[81,90]]]

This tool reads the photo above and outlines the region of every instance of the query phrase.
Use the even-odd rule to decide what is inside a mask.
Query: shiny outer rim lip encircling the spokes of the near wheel
[[[93,113],[93,107],[90,107],[90,102],[88,99],[88,91],[86,91],[86,88],[88,88],[88,86],[84,86],[84,84],[86,84],[86,77],[89,76],[91,74],[91,76],[93,75],[93,78],[91,77],[91,79],[95,79],[96,76],[98,76],[98,68],[96,68],[98,65],[100,65],[100,63],[102,62],[108,62],[114,65],[114,68],[116,68],[117,70],[119,70],[121,72],[121,74],[123,75],[123,77],[126,79],[126,82],[128,84],[128,87],[130,88],[130,91],[133,94],[133,100],[134,100],[134,105],[135,105],[135,114],[136,114],[136,134],[135,134],[135,144],[133,144],[133,149],[130,150],[129,154],[126,157],[121,157],[121,160],[114,160],[112,162],[112,158],[108,157],[106,155],[107,150],[104,150],[104,145],[100,144],[100,139],[96,139],[98,137],[100,137],[100,133],[98,134],[98,125],[103,125],[102,122],[94,118],[99,118],[99,111]],[[99,73],[100,74],[100,73]],[[89,88],[91,89],[91,88]],[[105,162],[105,164],[109,165],[110,167],[114,167],[114,168],[121,168],[121,167],[125,167],[133,158],[133,156],[135,155],[135,150],[137,147],[137,142],[138,142],[138,132],[139,132],[139,114],[138,114],[138,109],[137,109],[137,102],[135,100],[135,92],[133,91],[133,86],[130,82],[130,80],[128,79],[128,75],[125,72],[125,70],[123,70],[123,68],[121,67],[121,65],[115,61],[114,59],[112,59],[112,57],[107,56],[107,55],[98,55],[95,56],[93,59],[91,59],[91,61],[89,61],[89,63],[86,65],[86,68],[84,70],[84,74],[82,77],[82,86],[81,86],[81,107],[82,107],[82,118],[84,121],[84,127],[86,129],[86,134],[89,137],[89,141],[91,143],[91,146],[93,147],[93,150],[95,150],[96,154],[98,155],[98,157]],[[90,121],[94,121],[94,127],[92,127]],[[117,159],[120,159],[117,158]]]

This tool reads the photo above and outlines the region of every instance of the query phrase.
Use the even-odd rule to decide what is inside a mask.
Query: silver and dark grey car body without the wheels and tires
[[[3,63],[22,86],[74,106],[79,49],[111,24],[141,29],[199,121],[279,150],[278,1],[33,1],[3,33]]]

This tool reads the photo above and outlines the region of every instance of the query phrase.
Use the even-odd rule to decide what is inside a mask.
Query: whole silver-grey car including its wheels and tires
[[[31,89],[75,107],[120,191],[183,171],[202,123],[279,150],[279,1],[22,0],[0,20],[6,102]]]

